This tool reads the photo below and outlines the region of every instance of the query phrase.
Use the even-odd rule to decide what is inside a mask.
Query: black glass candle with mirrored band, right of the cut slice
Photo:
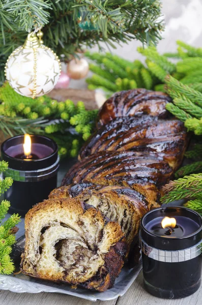
[[[177,220],[170,234],[168,228],[159,230],[164,217]],[[202,218],[191,209],[161,207],[143,216],[140,247],[146,290],[168,299],[194,293],[201,279],[201,243]]]

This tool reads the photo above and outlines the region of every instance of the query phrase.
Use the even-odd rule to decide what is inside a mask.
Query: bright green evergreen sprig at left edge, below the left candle
[[[5,171],[8,168],[8,163],[5,161],[0,162],[0,172]],[[13,180],[10,177],[6,177],[0,181],[0,193],[4,193],[12,185]],[[13,214],[11,217],[3,222],[10,202],[3,200],[0,204],[0,273],[9,275],[15,269],[14,263],[10,258],[12,251],[11,246],[15,243],[15,230],[14,227],[19,223],[20,217],[18,214]]]

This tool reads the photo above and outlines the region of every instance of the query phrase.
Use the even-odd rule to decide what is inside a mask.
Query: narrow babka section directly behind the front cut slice
[[[149,202],[145,196],[130,188],[91,183],[60,187],[49,195],[50,199],[74,197],[93,205],[110,221],[118,222],[129,247],[137,236],[142,216],[158,206],[155,201]]]

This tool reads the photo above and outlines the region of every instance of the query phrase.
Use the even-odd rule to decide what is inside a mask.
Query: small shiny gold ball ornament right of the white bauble
[[[67,73],[72,79],[81,79],[89,73],[89,64],[84,58],[70,60]]]

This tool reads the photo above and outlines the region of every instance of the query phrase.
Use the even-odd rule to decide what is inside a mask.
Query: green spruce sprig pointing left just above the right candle
[[[183,198],[202,197],[202,174],[191,174],[178,180],[170,181],[163,187],[165,196],[161,202],[168,203]]]

